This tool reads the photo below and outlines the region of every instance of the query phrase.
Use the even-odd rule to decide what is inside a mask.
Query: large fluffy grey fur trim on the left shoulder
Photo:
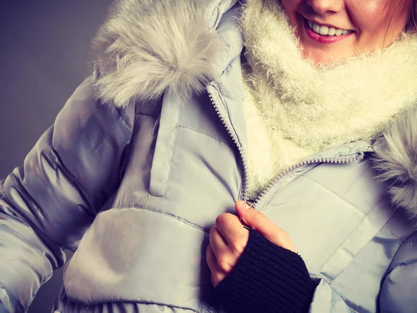
[[[97,99],[124,107],[202,92],[224,49],[207,13],[202,0],[115,1],[93,40]]]

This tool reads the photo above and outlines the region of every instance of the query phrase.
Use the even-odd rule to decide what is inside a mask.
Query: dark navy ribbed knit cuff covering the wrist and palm
[[[227,312],[308,312],[316,285],[296,253],[254,230],[235,268],[214,289]]]

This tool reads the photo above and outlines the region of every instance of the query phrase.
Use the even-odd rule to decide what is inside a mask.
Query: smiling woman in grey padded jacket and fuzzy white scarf
[[[3,310],[64,247],[55,312],[414,312],[415,8],[118,1],[0,182]]]

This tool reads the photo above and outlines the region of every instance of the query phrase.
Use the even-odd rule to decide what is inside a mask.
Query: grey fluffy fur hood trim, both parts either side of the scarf
[[[215,77],[224,49],[208,27],[211,0],[118,0],[94,41],[96,96],[115,106],[204,90]],[[378,178],[389,184],[394,204],[417,220],[417,110],[410,109],[385,132],[375,154]]]

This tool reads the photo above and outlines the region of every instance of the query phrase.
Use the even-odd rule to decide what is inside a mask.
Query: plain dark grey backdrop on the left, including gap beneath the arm
[[[90,40],[110,2],[0,0],[0,179],[22,166],[88,75]],[[61,275],[40,289],[30,313],[51,310]]]

